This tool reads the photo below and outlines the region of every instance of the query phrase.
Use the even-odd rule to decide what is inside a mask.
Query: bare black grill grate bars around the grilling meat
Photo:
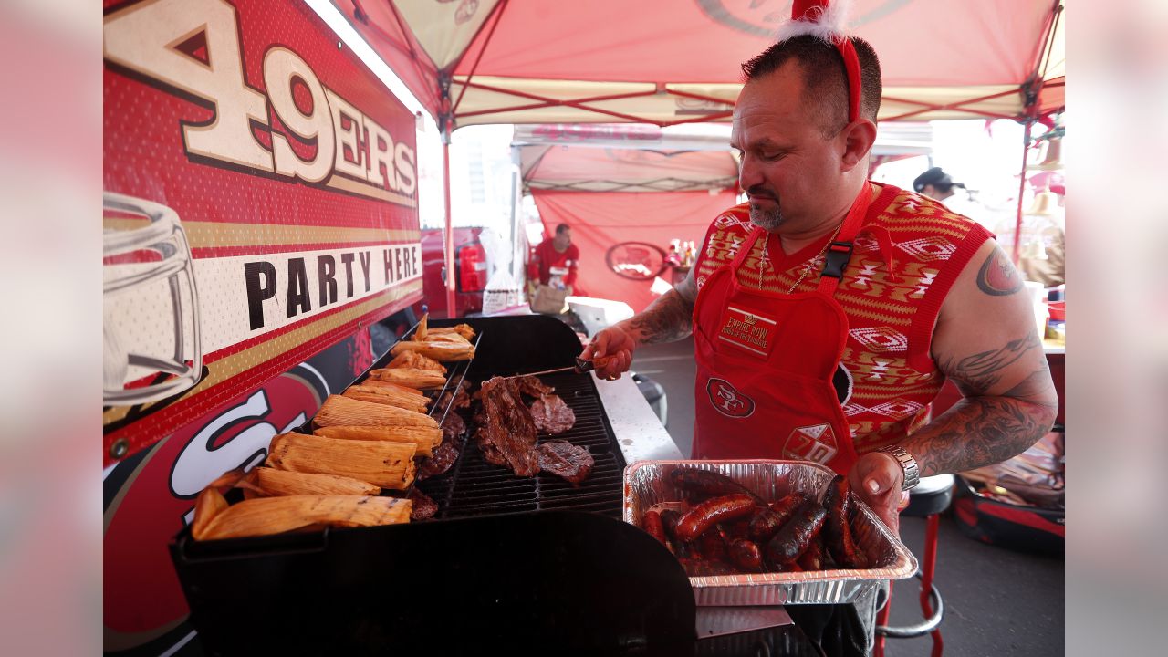
[[[571,373],[548,374],[540,380],[556,388],[555,394],[576,414],[576,424],[558,436],[541,434],[538,442],[559,438],[586,447],[596,461],[589,478],[579,486],[572,486],[544,472],[535,477],[516,477],[502,465],[487,463],[474,438],[468,436],[461,457],[449,472],[417,483],[418,490],[438,504],[434,518],[548,510],[592,511],[612,518],[621,517],[625,462],[596,385],[589,376]]]

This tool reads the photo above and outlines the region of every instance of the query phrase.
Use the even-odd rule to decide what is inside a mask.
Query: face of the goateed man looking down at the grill
[[[787,62],[746,83],[734,110],[730,145],[742,155],[738,182],[750,199],[751,221],[770,231],[813,228],[853,201],[842,199],[846,144],[823,136],[802,88],[799,65]]]

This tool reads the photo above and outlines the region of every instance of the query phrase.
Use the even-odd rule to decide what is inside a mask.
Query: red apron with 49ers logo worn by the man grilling
[[[766,235],[762,228],[702,285],[694,304],[694,458],[814,461],[840,473],[855,463],[832,382],[848,337],[833,295],[870,203],[865,184],[826,251],[814,291],[784,295],[738,283],[739,267]]]

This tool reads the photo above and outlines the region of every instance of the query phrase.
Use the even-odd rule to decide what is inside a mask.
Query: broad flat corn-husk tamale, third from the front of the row
[[[277,470],[340,475],[383,489],[405,490],[413,483],[416,452],[413,443],[283,434],[272,438],[264,464]]]

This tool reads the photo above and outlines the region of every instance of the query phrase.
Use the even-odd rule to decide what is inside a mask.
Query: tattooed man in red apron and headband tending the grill
[[[613,379],[638,345],[693,333],[694,458],[822,463],[895,531],[918,473],[1026,450],[1057,397],[1022,278],[989,234],[868,180],[880,63],[823,28],[804,16],[743,64],[731,145],[749,202],[714,220],[683,282],[584,357],[614,355],[598,368]],[[930,420],[946,379],[964,399]]]

